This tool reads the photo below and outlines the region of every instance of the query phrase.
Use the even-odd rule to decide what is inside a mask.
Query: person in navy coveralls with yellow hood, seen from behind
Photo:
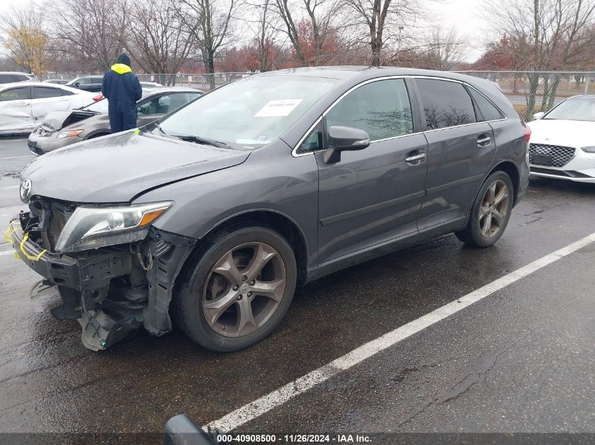
[[[112,133],[137,127],[137,101],[142,97],[139,79],[132,74],[130,57],[122,53],[104,75],[101,93],[108,100]]]

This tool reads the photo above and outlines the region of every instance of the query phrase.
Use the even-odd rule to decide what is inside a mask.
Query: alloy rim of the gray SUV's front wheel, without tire
[[[234,247],[218,259],[206,280],[206,322],[225,337],[253,333],[279,307],[285,281],[285,265],[274,247],[260,242]]]

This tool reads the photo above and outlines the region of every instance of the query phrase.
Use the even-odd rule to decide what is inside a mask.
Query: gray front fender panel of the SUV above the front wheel
[[[247,212],[275,212],[303,233],[308,266],[318,249],[318,166],[314,156],[292,157],[282,141],[251,153],[241,165],[171,183],[134,202],[173,200],[156,228],[201,239]]]

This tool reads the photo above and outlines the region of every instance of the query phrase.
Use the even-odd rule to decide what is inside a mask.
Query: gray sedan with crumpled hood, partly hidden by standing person
[[[137,102],[137,124],[149,124],[201,96],[193,88],[169,86],[143,90]],[[43,155],[56,148],[69,146],[87,139],[111,133],[106,98],[77,110],[50,112],[29,136],[29,148],[36,155]]]

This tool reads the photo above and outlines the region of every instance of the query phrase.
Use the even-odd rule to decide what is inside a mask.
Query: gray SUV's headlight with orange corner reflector
[[[172,205],[171,201],[122,207],[81,205],[62,229],[56,250],[76,252],[142,240],[151,223]]]

